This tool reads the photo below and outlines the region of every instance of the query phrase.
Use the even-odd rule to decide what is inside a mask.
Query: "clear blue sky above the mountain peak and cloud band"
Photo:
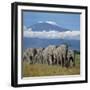
[[[23,11],[24,26],[30,27],[39,21],[53,21],[63,28],[80,30],[80,14]]]

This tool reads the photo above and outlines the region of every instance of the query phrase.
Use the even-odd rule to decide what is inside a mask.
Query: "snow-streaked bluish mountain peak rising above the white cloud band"
[[[51,31],[51,30],[56,30],[60,32],[67,31],[68,29],[62,28],[59,25],[55,23],[50,23],[50,22],[38,22],[36,24],[31,25],[28,28],[32,28],[33,31]]]

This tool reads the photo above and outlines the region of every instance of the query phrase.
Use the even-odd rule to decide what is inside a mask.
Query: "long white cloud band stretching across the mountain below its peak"
[[[32,31],[31,28],[24,31],[24,37],[45,39],[79,39],[80,31]]]

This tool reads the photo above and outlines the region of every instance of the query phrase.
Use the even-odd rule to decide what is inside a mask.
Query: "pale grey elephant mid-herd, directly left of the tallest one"
[[[44,64],[49,64],[49,65],[52,65],[53,64],[53,60],[54,60],[54,57],[53,57],[53,50],[55,49],[56,47],[54,45],[49,45],[48,47],[46,47],[44,50],[43,50],[43,63]]]

